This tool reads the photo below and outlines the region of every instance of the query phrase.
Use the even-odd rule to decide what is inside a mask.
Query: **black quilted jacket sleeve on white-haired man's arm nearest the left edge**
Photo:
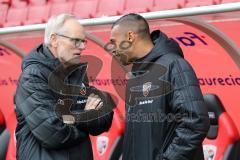
[[[42,77],[38,69],[26,69],[15,96],[16,109],[25,117],[33,135],[49,149],[71,146],[86,139],[87,133],[75,125],[64,124],[57,117],[54,112],[56,100],[48,82]]]

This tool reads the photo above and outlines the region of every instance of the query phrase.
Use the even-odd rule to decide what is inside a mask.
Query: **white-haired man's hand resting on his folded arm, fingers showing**
[[[86,106],[84,108],[84,110],[91,110],[91,109],[100,109],[103,106],[103,102],[102,99],[95,94],[90,94],[88,99],[87,99],[87,103]]]

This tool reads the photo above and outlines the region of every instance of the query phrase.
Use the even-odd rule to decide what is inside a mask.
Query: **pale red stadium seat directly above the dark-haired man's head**
[[[149,12],[153,8],[153,0],[127,0],[125,13]]]

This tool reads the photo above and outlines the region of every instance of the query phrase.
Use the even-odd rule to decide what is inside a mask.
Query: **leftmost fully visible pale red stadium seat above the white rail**
[[[27,19],[27,8],[10,8],[4,27],[22,25]]]

